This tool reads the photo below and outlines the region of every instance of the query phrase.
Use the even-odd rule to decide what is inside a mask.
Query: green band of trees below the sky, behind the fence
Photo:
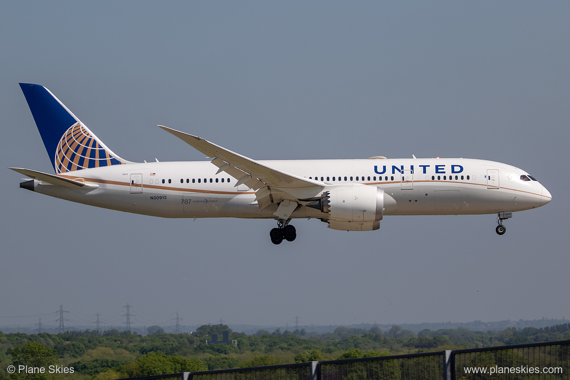
[[[212,334],[229,332],[238,345],[206,344]],[[390,329],[338,327],[333,333],[259,330],[233,332],[227,325],[203,325],[193,334],[166,334],[151,326],[142,336],[116,329],[62,334],[0,332],[0,366],[55,366],[72,373],[0,372],[0,380],[113,380],[199,371],[323,361],[446,349],[481,348],[570,339],[570,324],[544,328],[506,328],[495,332],[457,329],[424,329],[418,333],[393,325]]]

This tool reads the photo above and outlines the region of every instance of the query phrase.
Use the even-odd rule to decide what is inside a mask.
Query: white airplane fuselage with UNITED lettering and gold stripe
[[[551,195],[517,167],[466,158],[259,161],[327,185],[360,183],[384,189],[396,201],[384,215],[495,214],[533,209]],[[259,210],[255,191],[208,161],[145,162],[76,170],[62,177],[96,189],[35,181],[38,193],[128,213],[164,218],[275,218],[277,205]],[[532,177],[531,177],[532,178]],[[314,194],[315,197],[319,194]],[[323,218],[300,207],[291,218]]]

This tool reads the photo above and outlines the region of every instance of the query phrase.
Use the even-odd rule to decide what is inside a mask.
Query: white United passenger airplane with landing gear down
[[[23,189],[127,213],[162,218],[275,219],[271,242],[292,242],[293,219],[332,230],[373,231],[385,215],[497,214],[550,202],[518,167],[469,158],[258,161],[201,137],[158,125],[210,161],[131,162],[113,153],[46,87],[21,89],[55,174],[10,167]]]

